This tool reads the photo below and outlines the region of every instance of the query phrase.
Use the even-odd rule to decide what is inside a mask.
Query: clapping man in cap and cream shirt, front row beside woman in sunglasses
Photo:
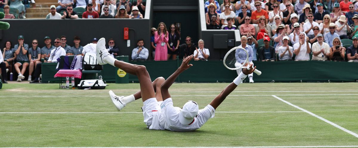
[[[312,44],[312,60],[325,61],[329,57],[329,45],[323,42],[323,35],[317,34],[317,42]]]

